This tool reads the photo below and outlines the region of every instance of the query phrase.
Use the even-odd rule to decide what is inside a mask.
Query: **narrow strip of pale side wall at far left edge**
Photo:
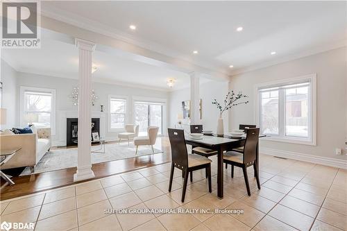
[[[2,108],[7,110],[6,124],[1,125],[1,130],[13,128],[17,125],[17,72],[1,59],[1,82],[3,83]]]

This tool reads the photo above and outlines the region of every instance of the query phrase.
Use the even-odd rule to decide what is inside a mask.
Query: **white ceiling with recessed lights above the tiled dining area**
[[[346,45],[346,1],[42,1],[42,10],[229,74]]]

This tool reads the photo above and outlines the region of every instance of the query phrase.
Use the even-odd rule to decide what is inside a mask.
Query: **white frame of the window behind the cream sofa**
[[[24,121],[25,92],[44,92],[51,94],[51,135],[56,135],[56,89],[26,86],[20,87],[19,123],[21,126],[28,126],[26,121]]]

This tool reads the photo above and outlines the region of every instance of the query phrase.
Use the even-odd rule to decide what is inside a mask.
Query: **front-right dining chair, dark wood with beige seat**
[[[259,142],[259,128],[248,128],[247,137],[244,143],[244,151],[242,153],[236,151],[228,151],[223,155],[223,162],[231,164],[231,178],[234,178],[234,166],[241,167],[244,171],[244,181],[246,182],[247,194],[251,196],[249,182],[247,176],[247,167],[254,165],[255,178],[257,187],[260,189],[259,176],[257,174],[257,144]]]

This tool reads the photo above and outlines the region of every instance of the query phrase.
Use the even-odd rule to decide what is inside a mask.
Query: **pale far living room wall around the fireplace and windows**
[[[37,74],[17,73],[17,89],[20,86],[26,87],[43,87],[56,89],[56,135],[53,137],[53,144],[59,142],[61,137],[65,137],[65,134],[59,134],[59,114],[63,111],[77,111],[78,107],[72,105],[69,95],[71,95],[73,87],[78,86],[78,80],[70,78],[56,78],[51,76],[41,76]],[[92,89],[95,90],[95,94],[99,96],[99,99],[92,106],[92,111],[100,112],[100,105],[104,105],[104,112],[106,112],[106,126],[108,125],[108,95],[113,94],[117,96],[126,96],[128,98],[128,123],[133,123],[133,97],[144,97],[144,99],[163,99],[168,101],[168,92],[155,91],[152,89],[141,89],[136,87],[125,87],[119,85],[112,85],[106,83],[92,83]],[[19,99],[19,91],[17,92],[17,98]],[[169,105],[167,105],[169,107]],[[19,114],[19,106],[17,107],[17,114]],[[164,120],[167,121],[167,114]],[[118,132],[108,132],[108,128],[105,128],[105,138],[108,140],[117,139]],[[60,138],[59,138],[60,137]],[[60,143],[59,143],[60,144]]]

